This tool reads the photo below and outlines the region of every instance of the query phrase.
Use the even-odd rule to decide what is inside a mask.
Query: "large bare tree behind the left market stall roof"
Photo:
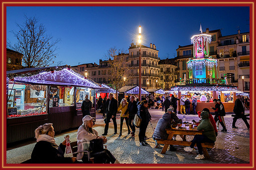
[[[60,39],[46,34],[46,28],[39,23],[36,17],[25,15],[26,21],[18,24],[19,31],[11,31],[17,38],[14,45],[11,42],[7,46],[15,51],[23,53],[23,65],[25,67],[44,67],[54,63],[56,57],[56,44]]]

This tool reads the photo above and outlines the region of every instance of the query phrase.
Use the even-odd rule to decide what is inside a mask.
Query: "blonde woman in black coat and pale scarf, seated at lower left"
[[[58,146],[54,139],[54,128],[52,123],[40,125],[35,130],[37,143],[32,151],[33,163],[74,163],[76,157],[64,157],[66,140]]]

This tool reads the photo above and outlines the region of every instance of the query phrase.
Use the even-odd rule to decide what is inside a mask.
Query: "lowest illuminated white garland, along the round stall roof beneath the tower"
[[[170,91],[240,91],[236,86],[233,85],[177,85],[170,88]]]

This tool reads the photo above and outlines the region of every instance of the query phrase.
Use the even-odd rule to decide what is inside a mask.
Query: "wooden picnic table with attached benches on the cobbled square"
[[[196,128],[190,128],[190,129],[177,129],[177,128],[167,128],[166,132],[169,134],[168,138],[166,140],[163,139],[157,139],[157,142],[159,144],[164,144],[164,147],[162,148],[161,153],[164,154],[169,146],[169,144],[173,145],[183,145],[183,146],[189,146],[192,141],[180,141],[180,140],[173,140],[173,136],[176,134],[178,135],[196,135],[196,134],[202,134],[201,130],[197,130]],[[214,143],[201,143],[203,147],[203,153],[206,158],[210,158],[208,151],[206,148],[212,148],[214,146]],[[196,146],[196,145],[195,145]]]

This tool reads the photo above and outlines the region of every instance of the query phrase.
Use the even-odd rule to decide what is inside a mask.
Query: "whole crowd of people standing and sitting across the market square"
[[[193,114],[196,114],[195,107],[197,105],[197,100],[194,96],[192,98],[192,112]],[[156,142],[155,148],[161,147],[161,144],[157,143],[156,139],[167,139],[168,134],[166,132],[166,128],[176,127],[178,123],[182,123],[182,120],[179,119],[177,116],[177,101],[180,100],[181,114],[189,114],[189,107],[191,104],[189,98],[185,98],[185,96],[182,96],[180,99],[178,99],[174,95],[172,95],[171,99],[169,99],[169,97],[167,96],[166,98],[158,97],[157,100],[160,100],[160,103],[163,103],[165,113],[163,114],[162,118],[159,119],[155,131],[152,135],[153,139]],[[154,100],[152,100],[151,98],[147,99],[146,97],[142,97],[141,101],[136,101],[136,97],[132,95],[129,96],[129,99],[122,98],[118,106],[118,102],[114,98],[113,93],[109,93],[108,98],[104,97],[104,99],[101,98],[98,100],[98,102],[99,101],[102,101],[102,104],[100,106],[102,107],[102,109],[105,109],[105,114],[103,115],[105,116],[105,127],[104,133],[102,133],[102,135],[99,135],[98,132],[92,128],[95,122],[95,117],[91,117],[88,114],[91,108],[91,102],[88,101],[87,95],[85,96],[85,100],[82,103],[83,123],[77,130],[77,157],[64,157],[67,140],[65,139],[62,143],[60,143],[60,145],[57,145],[54,139],[55,131],[53,124],[45,123],[35,129],[35,137],[37,139],[37,143],[31,154],[32,161],[35,163],[79,163],[81,161],[77,160],[82,160],[82,162],[88,163],[88,154],[84,154],[83,150],[89,149],[90,155],[91,157],[94,157],[95,163],[119,163],[118,160],[108,149],[103,148],[103,144],[107,142],[107,138],[105,136],[108,133],[110,119],[112,119],[114,125],[113,134],[117,133],[117,111],[121,112],[119,136],[122,135],[122,125],[123,120],[125,120],[128,129],[127,134],[131,134],[131,137],[135,137],[136,127],[135,124],[133,123],[133,120],[137,115],[139,118],[141,118],[141,124],[139,126],[140,145],[148,145],[146,141],[146,130],[149,122],[152,119],[152,116],[149,112],[149,108],[151,108],[152,106],[150,101]],[[227,131],[226,124],[224,121],[224,105],[220,101],[220,99],[213,99],[213,102],[215,106],[211,107],[211,109],[213,109],[215,113],[214,118],[211,115],[210,110],[208,108],[204,108],[202,111],[198,111],[198,117],[201,119],[198,122],[197,129],[202,130],[203,132],[200,135],[197,134],[194,136],[190,146],[184,147],[184,150],[192,151],[196,144],[199,153],[195,157],[196,159],[204,158],[201,143],[214,143],[216,141],[216,136],[218,135],[218,123],[222,126],[222,132]],[[233,112],[235,113],[232,122],[233,128],[237,128],[235,126],[236,120],[238,118],[242,118],[247,128],[249,129],[249,123],[247,122],[246,116],[244,115],[244,110],[245,100],[242,101],[242,96],[238,94],[233,108]],[[180,136],[182,137],[183,141],[186,141],[185,135]],[[174,139],[175,137],[176,136],[174,136]],[[94,147],[91,148],[90,146],[88,146],[88,142],[90,143],[92,141],[93,143],[98,143],[99,145],[93,144]],[[176,150],[176,148],[173,145],[170,145],[170,150],[174,151]]]

